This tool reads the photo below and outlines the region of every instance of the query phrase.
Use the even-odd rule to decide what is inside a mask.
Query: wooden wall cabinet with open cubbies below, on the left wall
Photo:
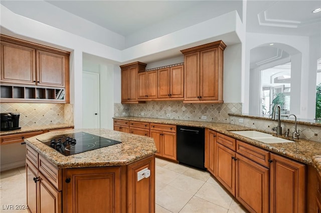
[[[69,102],[69,54],[1,35],[2,102]]]

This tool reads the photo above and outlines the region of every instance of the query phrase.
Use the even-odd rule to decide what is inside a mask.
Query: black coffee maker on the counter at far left
[[[1,131],[10,131],[21,129],[19,127],[19,112],[11,112],[11,113],[1,113],[0,115],[0,130]]]

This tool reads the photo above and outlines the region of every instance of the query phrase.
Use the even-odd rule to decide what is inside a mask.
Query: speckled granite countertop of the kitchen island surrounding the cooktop
[[[48,138],[48,136],[81,131],[107,137],[120,141],[121,143],[65,156],[38,140]],[[58,168],[127,165],[156,153],[156,146],[151,137],[109,129],[68,129],[51,131],[26,138],[25,141]]]

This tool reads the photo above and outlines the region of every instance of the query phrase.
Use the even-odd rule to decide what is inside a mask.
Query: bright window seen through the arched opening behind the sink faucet
[[[290,113],[291,62],[261,70],[261,115],[271,114],[274,104],[282,114]]]

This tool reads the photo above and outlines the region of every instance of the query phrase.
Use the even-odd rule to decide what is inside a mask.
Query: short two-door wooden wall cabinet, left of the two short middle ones
[[[138,99],[157,98],[157,70],[138,73]]]

